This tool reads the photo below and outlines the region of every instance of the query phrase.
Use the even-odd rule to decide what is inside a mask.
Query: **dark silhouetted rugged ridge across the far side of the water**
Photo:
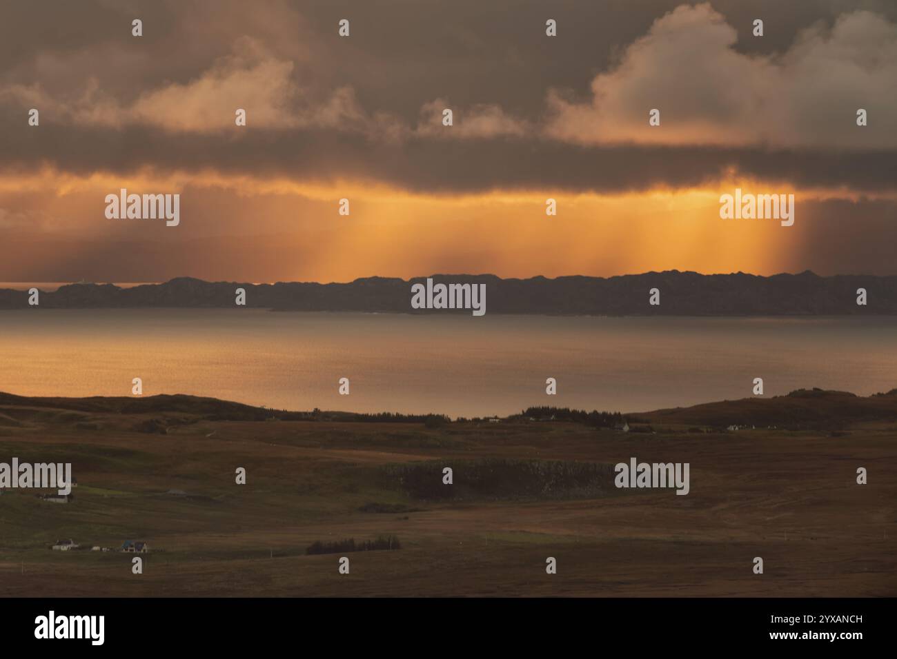
[[[492,274],[433,274],[434,282],[486,284],[487,314],[549,316],[853,316],[897,315],[897,276],[699,274],[675,270],[617,277],[565,276],[501,279]],[[205,282],[178,277],[169,282],[120,288],[76,283],[41,291],[39,308],[234,308],[236,289],[246,307],[277,311],[361,311],[464,314],[469,309],[413,309],[414,283],[368,277],[347,283]],[[649,305],[649,290],[660,304]],[[867,305],[857,304],[858,289]],[[0,309],[29,308],[23,290],[0,289]]]

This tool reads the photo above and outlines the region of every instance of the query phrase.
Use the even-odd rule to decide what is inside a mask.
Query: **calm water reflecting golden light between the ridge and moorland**
[[[820,386],[897,387],[897,317],[403,316],[257,309],[0,311],[0,391],[195,394],[291,410],[639,412]],[[351,395],[337,394],[340,377]],[[555,377],[558,395],[544,393]]]

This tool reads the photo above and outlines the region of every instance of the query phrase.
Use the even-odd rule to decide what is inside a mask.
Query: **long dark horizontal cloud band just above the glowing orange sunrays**
[[[132,126],[41,126],[0,131],[0,163],[22,172],[52,166],[74,174],[126,175],[214,169],[223,174],[335,181],[381,181],[412,191],[563,189],[614,192],[692,187],[733,173],[795,186],[893,190],[891,152],[795,152],[703,146],[579,146],[531,138],[401,143],[323,130],[255,131],[239,139],[170,134]]]

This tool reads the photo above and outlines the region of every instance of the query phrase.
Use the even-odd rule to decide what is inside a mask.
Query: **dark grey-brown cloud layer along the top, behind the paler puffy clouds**
[[[238,0],[35,0],[4,4],[0,21],[0,80],[41,82],[39,59],[58,56],[73,68],[62,87],[96,78],[121,99],[162,82],[187,82],[235,39],[251,36],[276,56],[297,62],[303,86],[350,85],[371,111],[408,120],[426,100],[459,105],[496,103],[535,118],[547,86],[588,92],[592,78],[652,22],[689,0],[313,0],[255,3]],[[799,30],[831,25],[840,13],[868,10],[897,21],[891,0],[713,0],[738,33],[736,48],[751,53],[785,50]],[[132,18],[144,37],[130,35]],[[351,39],[336,39],[348,18]],[[544,39],[546,18],[558,21],[559,39]],[[751,38],[762,18],[766,33]],[[117,52],[117,58],[109,53]],[[42,68],[43,66],[43,68]],[[76,69],[76,70],[75,70]]]

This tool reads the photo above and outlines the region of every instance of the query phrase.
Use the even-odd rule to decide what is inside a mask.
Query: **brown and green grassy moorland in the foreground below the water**
[[[70,462],[78,481],[66,505],[0,496],[0,595],[897,594],[897,393],[629,419],[623,433],[0,395],[0,462]],[[631,456],[690,463],[691,492],[617,490]],[[133,575],[131,555],[50,551],[57,538],[152,551]],[[329,551],[349,539],[370,551]]]

